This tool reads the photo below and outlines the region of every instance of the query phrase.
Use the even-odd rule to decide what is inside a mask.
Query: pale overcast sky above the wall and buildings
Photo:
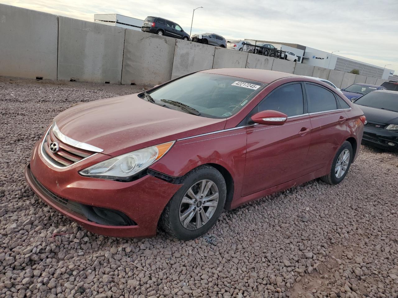
[[[192,34],[298,43],[398,70],[398,0],[0,0],[0,3],[94,21],[94,14],[148,15]],[[0,12],[1,13],[1,12]],[[398,72],[396,72],[398,74]]]

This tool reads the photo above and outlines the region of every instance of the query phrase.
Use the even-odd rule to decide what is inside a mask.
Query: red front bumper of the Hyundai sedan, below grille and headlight
[[[181,185],[168,183],[151,175],[132,182],[83,177],[78,174],[82,167],[79,164],[67,170],[52,168],[43,160],[38,150],[40,143],[33,149],[31,163],[25,169],[25,178],[33,192],[47,205],[96,234],[115,237],[156,235],[159,217]],[[135,225],[98,224],[58,202],[54,196],[72,204],[120,211]]]

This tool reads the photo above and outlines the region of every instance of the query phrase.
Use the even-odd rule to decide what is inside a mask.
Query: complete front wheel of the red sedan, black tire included
[[[205,181],[205,184],[203,184],[203,181]],[[164,208],[159,225],[168,234],[180,240],[191,240],[205,234],[217,222],[225,204],[226,184],[222,174],[212,166],[207,165],[199,166],[188,172],[182,177],[181,183],[183,186],[173,195]],[[191,191],[194,195],[200,195],[203,188],[204,190],[209,188],[209,190],[195,201]],[[216,192],[218,192],[218,197]],[[213,199],[209,199],[211,197]],[[206,198],[206,201],[202,201]],[[215,206],[216,203],[217,206]],[[198,216],[200,223],[198,223]],[[209,218],[205,222],[208,216]]]

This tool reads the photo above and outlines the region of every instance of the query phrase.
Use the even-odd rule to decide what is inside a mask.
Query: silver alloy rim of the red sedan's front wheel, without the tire
[[[205,225],[213,217],[219,204],[219,189],[211,180],[201,180],[191,186],[179,206],[179,221],[195,230]]]

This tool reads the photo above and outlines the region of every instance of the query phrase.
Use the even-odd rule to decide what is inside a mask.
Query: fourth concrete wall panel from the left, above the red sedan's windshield
[[[213,67],[215,46],[176,39],[172,79]]]

